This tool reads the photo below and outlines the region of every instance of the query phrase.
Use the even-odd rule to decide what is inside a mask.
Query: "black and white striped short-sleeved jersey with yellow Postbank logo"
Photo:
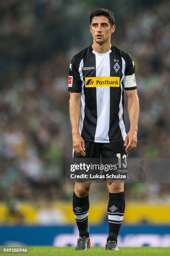
[[[124,141],[125,90],[136,89],[132,57],[115,46],[99,54],[92,46],[76,54],[70,63],[68,91],[81,93],[79,131],[85,141]]]

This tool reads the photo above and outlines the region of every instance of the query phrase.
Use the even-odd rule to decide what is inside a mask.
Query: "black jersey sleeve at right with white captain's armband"
[[[130,54],[125,54],[125,77],[123,79],[123,87],[125,90],[135,90],[135,63]]]

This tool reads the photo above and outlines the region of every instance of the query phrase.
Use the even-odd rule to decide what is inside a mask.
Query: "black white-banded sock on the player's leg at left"
[[[89,211],[89,196],[77,197],[75,192],[73,193],[72,200],[73,212],[79,230],[79,236],[89,237],[88,233],[88,211]]]

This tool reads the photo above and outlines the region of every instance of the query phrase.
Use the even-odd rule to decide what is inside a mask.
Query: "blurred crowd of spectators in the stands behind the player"
[[[112,43],[133,56],[140,99],[138,147],[129,156],[169,158],[170,2],[131,1],[136,9],[128,14],[113,3],[105,6],[117,22]],[[0,2],[0,200],[9,205],[71,200],[67,73],[72,56],[92,42],[89,15],[99,7],[95,1]],[[128,131],[127,115],[126,123]],[[129,200],[170,202],[169,184],[131,184],[126,192]]]

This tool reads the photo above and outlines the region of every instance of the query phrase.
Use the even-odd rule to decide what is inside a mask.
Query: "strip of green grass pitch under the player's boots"
[[[1,246],[2,247],[2,246]],[[10,255],[25,255],[25,256],[105,256],[105,255],[117,255],[117,256],[168,256],[170,255],[170,248],[119,248],[120,251],[106,251],[102,247],[92,247],[88,251],[75,251],[73,247],[29,247],[29,253],[7,253]],[[0,253],[1,254],[1,253]],[[6,254],[6,253],[5,253]],[[3,255],[5,255],[3,253]],[[1,254],[2,255],[2,254]]]

